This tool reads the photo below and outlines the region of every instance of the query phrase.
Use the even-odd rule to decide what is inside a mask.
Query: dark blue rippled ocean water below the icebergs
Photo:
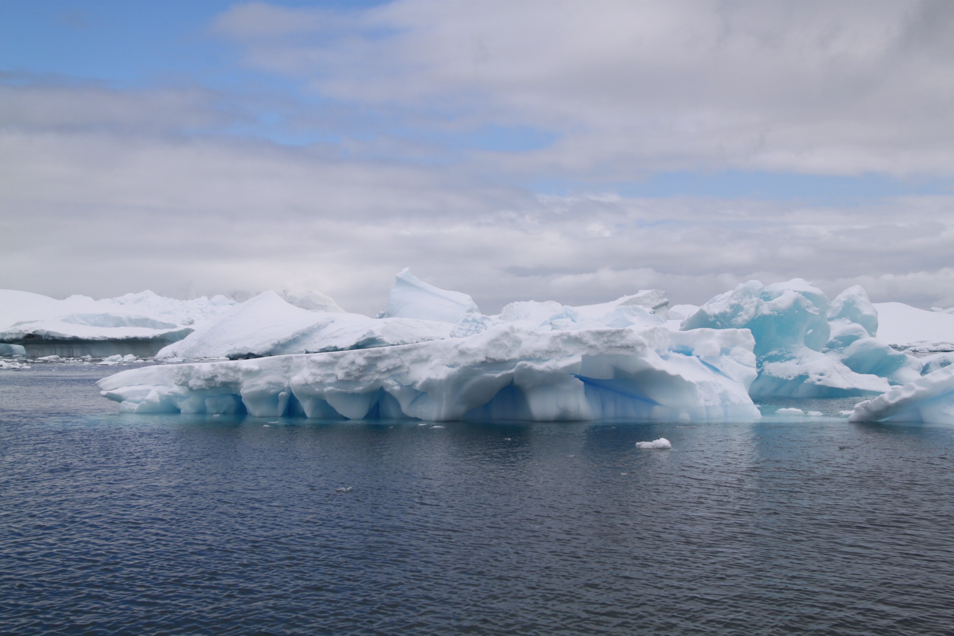
[[[952,428],[121,415],[114,371],[0,371],[4,634],[954,631]]]

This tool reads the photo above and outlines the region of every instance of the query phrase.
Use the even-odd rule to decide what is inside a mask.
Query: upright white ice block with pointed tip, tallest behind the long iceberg
[[[425,283],[409,269],[404,269],[394,277],[384,318],[417,318],[455,324],[468,314],[480,314],[473,298]]]

